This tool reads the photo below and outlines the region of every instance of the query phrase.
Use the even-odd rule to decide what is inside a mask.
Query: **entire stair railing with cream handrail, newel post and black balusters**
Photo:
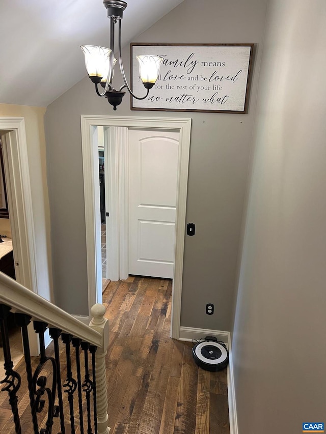
[[[5,368],[5,378],[0,379],[3,385],[0,395],[8,393],[13,415],[13,426],[6,426],[6,432],[23,434],[28,423],[26,413],[29,413],[28,429],[31,431],[33,425],[34,434],[108,434],[105,373],[108,322],[104,313],[103,305],[94,305],[92,320],[87,326],[0,272],[0,326]],[[31,322],[40,346],[37,366],[30,354],[28,326]],[[21,366],[14,368],[12,361],[10,324],[20,327],[22,334],[23,377],[28,383],[30,408],[22,416],[19,414]],[[53,357],[46,355],[44,334],[47,329],[53,340]],[[62,378],[63,370],[66,379]]]

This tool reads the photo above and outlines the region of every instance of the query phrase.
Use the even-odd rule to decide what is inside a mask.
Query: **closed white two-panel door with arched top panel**
[[[179,132],[129,129],[129,274],[173,278],[179,146]]]

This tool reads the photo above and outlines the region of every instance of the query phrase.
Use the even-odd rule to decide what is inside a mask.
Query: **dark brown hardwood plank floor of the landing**
[[[104,290],[105,316],[110,321],[106,357],[110,434],[230,433],[226,369],[208,372],[198,368],[193,345],[170,339],[171,292],[170,280],[144,277],[111,282]],[[67,364],[63,344],[60,348],[64,382]],[[46,352],[52,356],[53,344]],[[38,359],[32,362],[34,372]],[[32,434],[23,361],[17,370],[22,376],[18,396],[22,434]],[[75,363],[73,372],[75,376]],[[50,370],[45,369],[44,374],[50,383]],[[64,407],[68,408],[66,393]],[[79,434],[77,399],[74,407]],[[65,414],[68,434],[69,412]],[[44,427],[45,421],[46,415],[40,414],[39,426]],[[53,434],[60,431],[58,418],[54,422]],[[0,433],[14,432],[8,394],[0,392]]]

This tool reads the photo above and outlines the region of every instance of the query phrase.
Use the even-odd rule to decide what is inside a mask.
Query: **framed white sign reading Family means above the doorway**
[[[146,94],[136,59],[163,57],[159,77],[143,100],[131,97],[132,110],[247,113],[254,44],[132,43],[132,89]]]

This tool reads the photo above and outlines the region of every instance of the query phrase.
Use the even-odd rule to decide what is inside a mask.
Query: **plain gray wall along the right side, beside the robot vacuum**
[[[269,0],[233,334],[240,434],[326,422],[326,4]]]

